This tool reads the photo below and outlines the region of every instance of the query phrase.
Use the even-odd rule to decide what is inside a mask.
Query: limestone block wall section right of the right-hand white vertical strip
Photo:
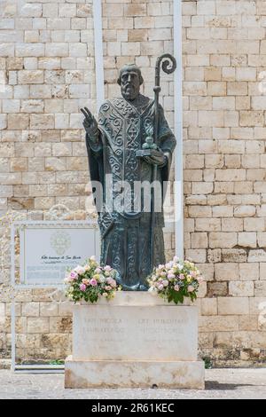
[[[183,2],[185,254],[217,365],[265,363],[265,27],[265,1]]]

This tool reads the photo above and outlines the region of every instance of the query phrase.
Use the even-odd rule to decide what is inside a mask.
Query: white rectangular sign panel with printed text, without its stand
[[[21,284],[63,284],[67,268],[99,257],[96,224],[27,224],[20,231]],[[81,227],[82,226],[82,227]]]

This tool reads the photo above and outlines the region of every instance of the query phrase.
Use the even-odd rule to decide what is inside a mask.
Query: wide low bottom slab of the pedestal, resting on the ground
[[[73,360],[66,358],[65,388],[204,389],[204,362]]]

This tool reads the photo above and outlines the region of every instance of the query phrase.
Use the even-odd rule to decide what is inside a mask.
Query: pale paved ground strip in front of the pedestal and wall
[[[0,398],[173,399],[264,398],[266,369],[210,369],[206,389],[64,389],[63,374],[12,374],[0,371]]]

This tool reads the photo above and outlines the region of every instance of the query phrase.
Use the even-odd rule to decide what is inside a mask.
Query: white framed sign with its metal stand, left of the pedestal
[[[99,260],[98,224],[90,221],[20,221],[12,224],[12,290],[51,288],[65,300],[64,278],[68,268],[82,264],[90,256]],[[64,372],[63,365],[16,364],[16,309],[12,298],[12,371]]]

